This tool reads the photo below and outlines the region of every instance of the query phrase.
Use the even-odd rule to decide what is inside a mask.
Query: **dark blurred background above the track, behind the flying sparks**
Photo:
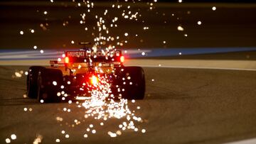
[[[123,50],[154,50],[154,54],[141,57],[196,55],[208,59],[209,55],[201,54],[224,52],[215,58],[255,60],[255,8],[255,1],[249,0],[6,0],[0,2],[0,50],[79,48],[80,41],[95,42],[100,33],[97,21],[102,17],[109,30],[105,36],[110,35],[110,41],[101,48],[116,45]],[[129,11],[137,13],[137,18],[124,18]],[[116,17],[118,20],[112,23]]]

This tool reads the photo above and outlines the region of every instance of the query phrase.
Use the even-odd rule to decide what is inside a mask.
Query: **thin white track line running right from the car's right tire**
[[[132,65],[127,65],[132,66]],[[225,67],[186,67],[186,66],[170,66],[170,65],[137,65],[139,67],[154,67],[154,68],[181,68],[181,69],[208,69],[208,70],[246,70],[246,71],[256,71],[255,69],[239,69],[239,68],[225,68]]]

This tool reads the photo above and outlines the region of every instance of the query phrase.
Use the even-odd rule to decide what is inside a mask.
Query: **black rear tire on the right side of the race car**
[[[145,75],[142,67],[122,67],[119,86],[122,98],[144,99]],[[123,91],[124,90],[124,91]]]

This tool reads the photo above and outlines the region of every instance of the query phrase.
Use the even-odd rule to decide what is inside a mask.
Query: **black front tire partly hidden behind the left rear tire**
[[[45,69],[45,67],[32,66],[28,69],[28,75],[26,79],[27,96],[29,98],[36,99],[38,89],[38,72]]]

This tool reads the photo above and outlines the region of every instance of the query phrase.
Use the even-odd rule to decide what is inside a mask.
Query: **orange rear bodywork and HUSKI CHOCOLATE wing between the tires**
[[[50,68],[55,68],[63,72],[65,75],[76,74],[86,74],[93,70],[93,72],[102,73],[102,74],[111,74],[114,73],[114,67],[121,66],[124,62],[124,56],[122,56],[122,51],[117,50],[111,53],[112,57],[108,62],[88,62],[88,60],[76,60],[79,57],[90,57],[90,56],[105,57],[102,50],[97,52],[87,52],[87,51],[67,51],[65,56],[59,62],[57,60],[50,60]],[[113,58],[118,57],[118,58]],[[75,60],[74,60],[75,59]],[[83,62],[85,61],[85,62]],[[103,60],[104,61],[104,60]]]

